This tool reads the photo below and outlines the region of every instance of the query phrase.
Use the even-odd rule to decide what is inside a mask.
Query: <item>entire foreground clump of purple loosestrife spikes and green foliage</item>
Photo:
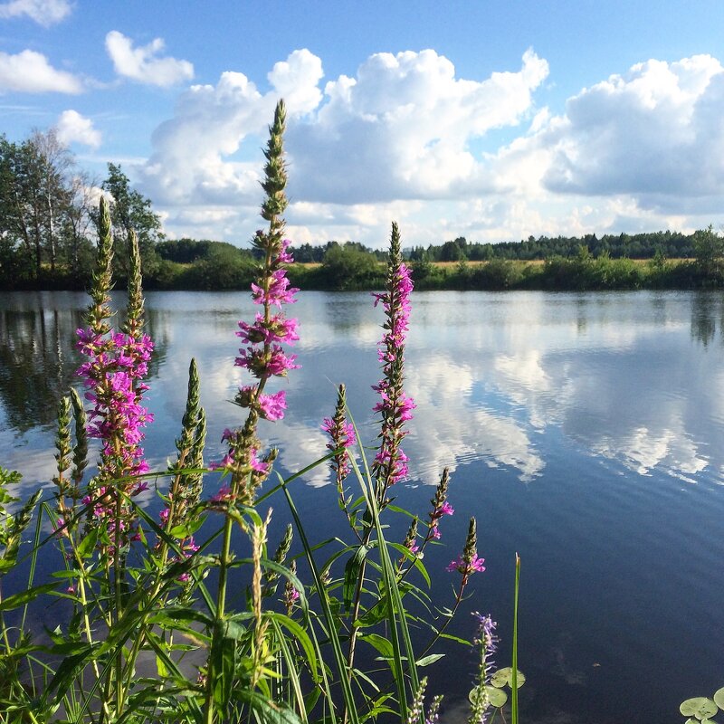
[[[441,658],[430,652],[441,638],[452,638],[445,632],[462,605],[468,580],[484,568],[471,519],[462,554],[450,568],[459,576],[452,608],[430,615],[424,586],[431,586],[433,578],[423,554],[441,537],[443,516],[453,512],[448,474],[443,472],[419,537],[418,517],[395,508],[389,498],[407,472],[401,443],[414,409],[405,394],[404,357],[412,284],[400,258],[396,226],[386,290],[377,295],[386,316],[379,348],[383,379],[376,386],[380,444],[374,460],[367,461],[341,388],[337,410],[323,424],[331,436],[330,452],[309,466],[331,462],[352,542],[308,538],[292,496],[293,481],[305,471],[287,480],[277,474],[276,485],[260,494],[262,483],[271,480],[277,453],[262,452],[257,423],[284,414],[283,390],[271,392],[269,386],[296,367],[282,345],[298,338],[295,320],[283,313],[295,292],[286,277],[292,260],[282,235],[283,129],[280,103],[262,184],[262,216],[269,226],[255,237],[261,261],[252,297],[259,312],[253,322],[240,322],[237,332],[243,347],[236,364],[253,380],[235,399],[247,411],[246,419],[224,433],[228,452],[207,468],[205,412],[192,361],[176,460],[165,472],[146,472],[140,445],[150,418],[141,380],[152,345],[143,332],[138,250],[131,235],[129,308],[117,331],[110,325],[110,224],[101,205],[93,303],[87,326],[79,332],[87,357],[81,375],[92,409],[87,419],[77,395],[61,399],[54,506],[49,500],[40,504],[27,586],[0,596],[2,724],[40,724],[58,717],[93,724],[252,719],[357,724],[388,715],[423,724],[437,719],[440,698],[425,713],[426,680],[421,681],[418,669]],[[102,449],[98,473],[84,484],[89,436],[100,438]],[[158,493],[165,507],[154,519],[137,496],[151,480],[163,478],[170,481],[167,491]],[[17,479],[5,471],[0,478],[0,576],[16,567],[21,535],[37,507],[35,496],[14,515],[2,508],[11,502],[5,487]],[[301,551],[290,563],[291,529],[275,552],[267,547],[271,509],[263,507],[273,494],[287,500],[301,539]],[[413,520],[404,542],[387,540],[394,535],[389,532],[393,516]],[[44,541],[43,519],[50,519],[53,528]],[[36,562],[50,551],[49,542],[60,548],[62,566],[52,576],[56,580],[38,584]],[[296,572],[302,560],[309,566],[309,585]],[[281,599],[275,599],[281,581]],[[28,605],[40,605],[47,597],[65,607],[54,609],[57,626],[48,626],[48,641],[40,641],[26,630],[25,616]],[[413,625],[429,632],[422,654],[413,645]],[[471,722],[498,706],[487,687],[505,685],[509,678],[517,721],[516,635],[514,627],[510,677],[490,680],[485,659]],[[491,627],[483,626],[478,645],[490,651],[491,642]],[[360,668],[360,648],[366,656],[376,655],[376,662]]]

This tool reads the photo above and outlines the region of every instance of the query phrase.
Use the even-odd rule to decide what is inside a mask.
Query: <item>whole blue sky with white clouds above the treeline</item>
[[[724,223],[724,3],[0,0],[0,132],[121,163],[244,244],[289,107],[289,235],[384,246]]]

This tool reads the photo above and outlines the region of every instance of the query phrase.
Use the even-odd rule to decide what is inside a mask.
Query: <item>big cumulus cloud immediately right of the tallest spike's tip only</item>
[[[376,53],[355,78],[327,83],[315,122],[291,127],[295,194],[360,203],[480,190],[486,182],[470,142],[519,123],[547,75],[532,51],[519,71],[483,81],[458,78],[433,50]]]

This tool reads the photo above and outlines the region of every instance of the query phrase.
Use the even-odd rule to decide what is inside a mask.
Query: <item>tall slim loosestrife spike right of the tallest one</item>
[[[405,338],[410,319],[410,293],[413,282],[410,270],[402,261],[400,233],[392,224],[390,252],[387,262],[386,290],[375,294],[375,306],[382,302],[386,321],[385,334],[379,343],[377,356],[382,363],[382,380],[373,389],[380,396],[375,412],[381,417],[379,450],[373,464],[376,495],[380,506],[385,504],[386,491],[407,475],[408,458],[401,443],[407,431],[405,422],[412,419],[414,401],[405,395]]]

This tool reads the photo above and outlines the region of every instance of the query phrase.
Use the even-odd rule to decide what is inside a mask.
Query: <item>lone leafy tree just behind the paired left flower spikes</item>
[[[138,236],[138,249],[144,275],[157,271],[156,243],[162,241],[161,219],[151,208],[151,200],[131,189],[129,177],[117,164],[108,165],[108,178],[103,189],[113,197],[110,203],[110,220],[113,224],[115,258],[121,260],[123,271],[128,271],[129,234]]]

